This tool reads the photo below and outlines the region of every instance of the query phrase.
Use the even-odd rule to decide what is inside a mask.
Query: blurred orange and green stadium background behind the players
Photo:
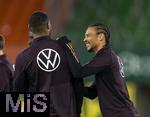
[[[150,117],[149,0],[0,0],[0,33],[6,38],[5,51],[13,63],[28,46],[28,19],[37,10],[51,18],[53,38],[67,35],[73,41],[83,64],[93,57],[83,44],[87,26],[107,24],[112,47],[125,65],[130,98],[141,117]],[[90,85],[93,76],[84,81]],[[84,98],[82,117],[101,117],[97,99]]]

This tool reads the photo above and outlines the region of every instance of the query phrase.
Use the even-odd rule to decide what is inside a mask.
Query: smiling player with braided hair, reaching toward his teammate
[[[109,44],[110,32],[105,25],[93,24],[87,28],[84,43],[89,52],[95,53],[95,57],[84,66],[76,60],[71,41],[63,38],[60,42],[65,44],[74,77],[95,74],[95,85],[92,87],[97,90],[92,91],[97,92],[103,117],[139,117],[129,98],[122,61]]]

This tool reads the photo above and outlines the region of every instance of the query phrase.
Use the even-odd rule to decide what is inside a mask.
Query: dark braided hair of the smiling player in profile
[[[109,28],[106,25],[100,24],[100,23],[95,23],[95,24],[89,25],[88,27],[94,27],[97,31],[97,34],[104,33],[105,38],[106,38],[106,43],[109,44],[110,31],[109,31]]]

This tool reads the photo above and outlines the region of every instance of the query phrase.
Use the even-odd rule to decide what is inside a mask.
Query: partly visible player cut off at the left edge
[[[12,91],[13,67],[4,53],[5,39],[0,35],[0,92]]]

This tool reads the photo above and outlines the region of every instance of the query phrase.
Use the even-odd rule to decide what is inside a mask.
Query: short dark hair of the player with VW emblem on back
[[[41,33],[48,28],[49,18],[40,11],[34,12],[29,19],[29,28],[33,33]]]

